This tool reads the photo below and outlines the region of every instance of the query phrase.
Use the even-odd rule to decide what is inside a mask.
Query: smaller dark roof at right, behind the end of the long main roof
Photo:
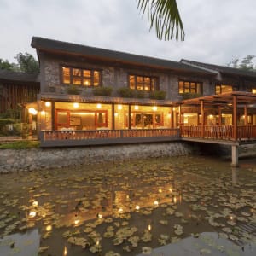
[[[218,72],[218,73],[224,73],[224,74],[230,74],[230,75],[236,75],[236,76],[242,76],[242,77],[251,77],[256,78],[256,72],[253,71],[247,71],[240,68],[234,68],[234,67],[224,67],[224,66],[218,66],[214,64],[207,64],[203,62],[198,61],[189,61],[182,59],[181,62],[183,64],[191,65],[191,67],[202,67],[204,70],[207,70],[208,72]]]

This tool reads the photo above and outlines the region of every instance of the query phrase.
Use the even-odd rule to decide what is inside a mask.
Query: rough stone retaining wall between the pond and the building
[[[34,171],[102,161],[122,161],[164,156],[193,154],[194,146],[187,143],[145,143],[86,148],[32,148],[0,150],[0,173]]]

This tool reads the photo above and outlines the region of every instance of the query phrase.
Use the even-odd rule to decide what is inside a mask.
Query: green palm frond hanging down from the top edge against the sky
[[[137,9],[147,13],[150,30],[155,28],[157,38],[184,40],[183,22],[177,9],[176,0],[137,0]]]

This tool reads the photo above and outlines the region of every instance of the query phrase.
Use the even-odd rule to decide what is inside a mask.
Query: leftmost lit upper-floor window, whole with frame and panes
[[[97,70],[62,67],[62,82],[63,84],[99,86],[101,85],[101,73]]]

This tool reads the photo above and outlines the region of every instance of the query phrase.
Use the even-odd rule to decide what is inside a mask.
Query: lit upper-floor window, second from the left
[[[158,90],[158,78],[130,75],[129,87],[132,90]]]

